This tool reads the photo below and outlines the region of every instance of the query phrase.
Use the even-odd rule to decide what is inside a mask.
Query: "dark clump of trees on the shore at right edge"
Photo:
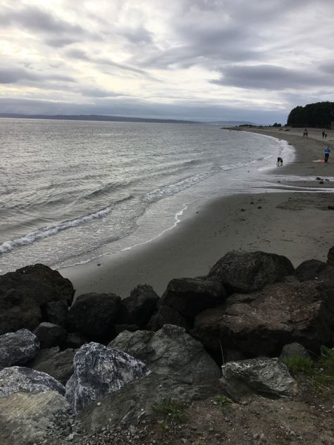
[[[317,102],[305,106],[296,106],[287,116],[290,127],[330,128],[334,121],[334,102]]]

